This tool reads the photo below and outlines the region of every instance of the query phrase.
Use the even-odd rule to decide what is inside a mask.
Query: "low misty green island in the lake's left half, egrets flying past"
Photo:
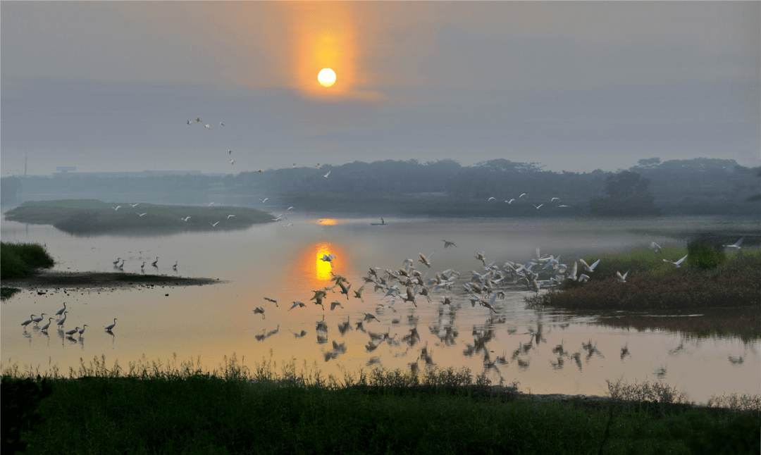
[[[186,221],[183,218],[187,218]],[[31,224],[53,224],[61,231],[71,234],[104,234],[145,232],[146,229],[162,233],[244,229],[252,224],[271,222],[272,216],[256,208],[245,207],[147,203],[132,207],[127,202],[67,199],[24,202],[9,210],[5,219]]]

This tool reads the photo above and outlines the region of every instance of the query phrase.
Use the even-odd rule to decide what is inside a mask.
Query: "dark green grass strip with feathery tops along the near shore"
[[[22,432],[27,453],[758,453],[761,437],[758,403],[679,406],[666,386],[610,384],[616,400],[584,406],[498,393],[466,370],[338,380],[306,364],[275,368],[263,361],[252,372],[233,355],[212,372],[145,358],[125,372],[103,357],[82,361],[71,379],[27,379],[52,390],[39,401],[40,424]],[[4,371],[3,389],[23,376]]]

